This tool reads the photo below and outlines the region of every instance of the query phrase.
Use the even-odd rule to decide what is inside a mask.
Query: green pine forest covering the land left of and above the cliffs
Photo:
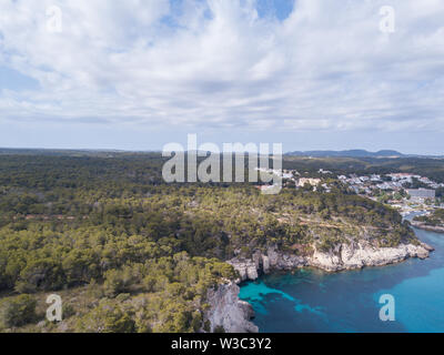
[[[236,277],[224,263],[233,256],[414,241],[396,211],[341,184],[279,195],[165,184],[162,163],[155,153],[0,156],[0,328],[60,331],[36,325],[57,291],[63,331],[208,329],[206,291]]]

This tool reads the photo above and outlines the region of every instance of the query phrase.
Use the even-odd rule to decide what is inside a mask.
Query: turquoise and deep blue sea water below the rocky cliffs
[[[424,261],[329,274],[302,268],[241,286],[260,332],[444,332],[444,234],[415,230],[435,247]],[[382,322],[380,296],[395,297]]]

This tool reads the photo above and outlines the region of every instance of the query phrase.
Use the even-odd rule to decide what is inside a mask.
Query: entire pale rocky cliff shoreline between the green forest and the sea
[[[238,284],[242,281],[256,280],[262,273],[292,271],[303,266],[314,266],[327,272],[382,266],[408,257],[426,258],[432,251],[433,247],[425,243],[375,247],[365,241],[342,244],[329,253],[314,247],[314,252],[306,256],[283,253],[276,246],[269,247],[266,253],[256,251],[251,258],[235,257],[228,261],[239,272],[240,278],[209,291],[210,310],[205,312],[205,320],[210,321],[211,332],[221,326],[226,333],[259,332],[258,326],[250,322],[254,317],[252,306],[239,298]]]

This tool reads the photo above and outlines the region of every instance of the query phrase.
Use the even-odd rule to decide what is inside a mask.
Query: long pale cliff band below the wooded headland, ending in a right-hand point
[[[232,258],[228,261],[240,274],[241,281],[256,280],[259,274],[271,270],[291,271],[302,266],[314,266],[329,272],[382,266],[402,262],[408,257],[428,257],[433,247],[425,243],[400,244],[395,247],[375,247],[366,241],[339,245],[334,251],[322,252],[313,246],[310,255],[295,255],[270,247],[266,253],[255,252],[252,258]]]

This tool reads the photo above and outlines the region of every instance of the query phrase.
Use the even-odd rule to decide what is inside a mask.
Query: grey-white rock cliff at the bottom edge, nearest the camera
[[[250,322],[254,317],[253,307],[239,298],[239,291],[234,282],[220,284],[218,288],[209,290],[210,310],[205,312],[204,318],[210,321],[211,332],[221,326],[226,333],[259,332],[258,326]]]

